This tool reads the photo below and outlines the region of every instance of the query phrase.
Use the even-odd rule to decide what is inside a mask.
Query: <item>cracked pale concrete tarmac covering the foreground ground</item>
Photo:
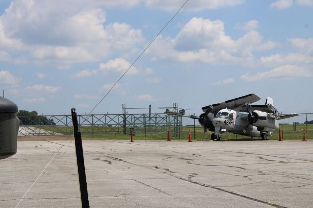
[[[1,208],[80,207],[75,144],[18,140]],[[83,140],[91,208],[313,207],[313,140]]]

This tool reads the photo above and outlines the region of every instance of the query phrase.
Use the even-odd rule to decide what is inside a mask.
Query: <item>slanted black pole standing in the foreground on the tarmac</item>
[[[82,136],[81,136],[81,133],[78,131],[76,109],[72,108],[71,112],[72,112],[72,121],[73,121],[73,128],[74,128],[76,159],[77,159],[78,179],[79,179],[82,208],[89,208]]]

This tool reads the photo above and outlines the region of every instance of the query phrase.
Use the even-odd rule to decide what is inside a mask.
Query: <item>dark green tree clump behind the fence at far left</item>
[[[16,116],[20,119],[20,125],[55,125],[53,119],[48,119],[46,116],[38,116],[38,113],[33,110],[19,110]]]

